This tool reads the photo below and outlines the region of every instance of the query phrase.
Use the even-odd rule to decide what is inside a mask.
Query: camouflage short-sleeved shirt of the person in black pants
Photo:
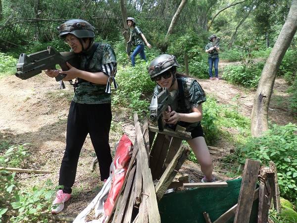
[[[92,55],[80,55],[80,70],[89,72],[102,72],[102,65],[116,64],[116,57],[109,44],[99,43]],[[73,101],[80,104],[106,104],[111,103],[110,94],[105,93],[106,84],[94,84],[89,81],[78,83]]]

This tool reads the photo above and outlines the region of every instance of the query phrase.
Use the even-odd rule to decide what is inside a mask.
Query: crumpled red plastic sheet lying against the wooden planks
[[[104,203],[104,215],[109,216],[114,206],[114,202],[124,183],[129,161],[132,156],[133,144],[127,135],[123,135],[119,141],[114,157],[114,172],[111,187],[107,200]]]

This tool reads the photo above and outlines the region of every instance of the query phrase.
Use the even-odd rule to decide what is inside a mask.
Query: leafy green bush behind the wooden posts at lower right
[[[268,165],[269,161],[275,163],[280,193],[288,200],[296,199],[297,193],[296,131],[296,124],[273,125],[265,135],[250,138],[241,148],[245,158],[261,161],[263,165]]]

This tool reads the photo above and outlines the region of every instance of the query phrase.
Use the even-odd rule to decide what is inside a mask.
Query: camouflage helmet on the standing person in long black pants
[[[59,37],[72,34],[77,38],[94,38],[95,28],[89,22],[82,19],[70,19],[62,23],[58,28]]]

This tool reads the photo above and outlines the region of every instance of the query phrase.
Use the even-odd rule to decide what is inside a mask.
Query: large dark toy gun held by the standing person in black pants
[[[52,47],[48,47],[47,50],[40,51],[34,54],[26,55],[21,54],[16,64],[15,76],[22,80],[29,79],[37,74],[40,74],[42,70],[56,69],[56,64],[59,64],[63,71],[69,70],[66,65],[69,62],[72,66],[78,67],[78,56],[74,52],[57,52]],[[60,88],[65,88],[62,79],[66,74],[59,74],[55,77],[56,81],[60,81]]]

